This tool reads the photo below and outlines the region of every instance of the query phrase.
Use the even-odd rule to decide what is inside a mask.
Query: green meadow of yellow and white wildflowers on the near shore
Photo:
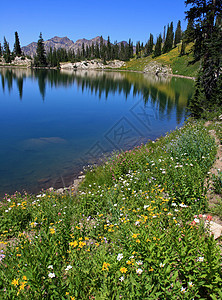
[[[205,214],[216,151],[190,122],[89,168],[77,194],[6,195],[1,299],[221,299]]]

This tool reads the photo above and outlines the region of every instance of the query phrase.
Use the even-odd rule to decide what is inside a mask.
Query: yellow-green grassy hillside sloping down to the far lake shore
[[[132,70],[132,71],[144,71],[144,68],[151,62],[158,62],[163,65],[170,66],[173,74],[196,77],[197,71],[200,63],[196,62],[191,64],[193,59],[192,55],[192,44],[187,45],[186,55],[179,56],[181,45],[174,48],[168,53],[162,54],[158,57],[152,58],[152,56],[133,58],[126,62],[126,65],[122,67],[122,70]]]

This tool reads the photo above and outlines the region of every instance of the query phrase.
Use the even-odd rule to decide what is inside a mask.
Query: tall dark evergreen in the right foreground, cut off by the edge
[[[201,60],[190,109],[196,116],[222,105],[222,0],[187,0],[186,17],[194,24],[194,53]]]

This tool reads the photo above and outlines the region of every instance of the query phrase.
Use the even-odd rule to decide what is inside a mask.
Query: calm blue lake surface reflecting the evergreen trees
[[[181,126],[193,81],[0,68],[0,195],[69,185],[102,153]]]

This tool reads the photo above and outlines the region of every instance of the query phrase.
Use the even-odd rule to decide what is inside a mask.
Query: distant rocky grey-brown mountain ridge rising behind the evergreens
[[[44,41],[44,44],[45,44],[46,52],[48,52],[51,47],[52,49],[64,48],[66,50],[74,50],[75,53],[77,53],[77,50],[82,47],[83,43],[85,46],[86,45],[91,46],[92,43],[94,43],[94,45],[96,45],[96,43],[100,44],[100,39],[101,39],[101,37],[97,36],[90,40],[83,38],[83,39],[77,40],[76,42],[73,42],[67,36],[65,36],[65,37],[54,36],[53,38]],[[103,39],[103,43],[107,44],[107,40]],[[123,43],[126,44],[127,42],[123,41]],[[118,44],[121,44],[121,42],[119,42]],[[37,49],[37,42],[32,42],[31,44],[22,47],[22,51],[24,52],[24,54],[32,56],[32,57],[35,55],[36,49]]]

